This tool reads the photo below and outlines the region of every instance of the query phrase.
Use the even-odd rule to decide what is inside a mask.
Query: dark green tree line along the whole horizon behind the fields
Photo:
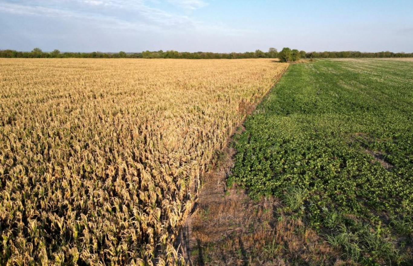
[[[141,53],[61,53],[59,50],[43,52],[40,48],[34,48],[31,52],[19,52],[16,50],[0,50],[0,58],[178,58],[178,59],[242,59],[242,58],[280,58],[282,62],[294,62],[301,58],[405,58],[413,57],[413,53],[392,53],[389,51],[378,53],[361,53],[358,51],[341,52],[305,52],[297,49],[283,48],[280,52],[275,48],[269,48],[268,52],[255,50],[245,53],[210,53],[210,52],[178,52],[168,50],[143,51]]]

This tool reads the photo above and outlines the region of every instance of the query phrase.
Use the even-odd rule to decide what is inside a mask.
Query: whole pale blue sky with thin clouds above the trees
[[[413,0],[0,0],[0,50],[413,52]]]

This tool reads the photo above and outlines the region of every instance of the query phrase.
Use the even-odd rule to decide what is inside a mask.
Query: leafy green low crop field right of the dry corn
[[[413,264],[412,69],[411,60],[290,66],[235,136],[228,183],[273,202],[259,214],[271,212],[260,215],[274,237],[233,242],[242,263]],[[277,237],[285,223],[299,247]],[[312,231],[336,253],[309,245]]]

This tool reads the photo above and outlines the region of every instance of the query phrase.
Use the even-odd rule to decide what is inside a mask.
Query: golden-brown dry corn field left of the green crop
[[[0,264],[178,264],[214,153],[287,68],[0,59]]]

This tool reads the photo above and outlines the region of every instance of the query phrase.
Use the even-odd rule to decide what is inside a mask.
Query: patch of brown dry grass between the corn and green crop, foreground
[[[357,265],[343,261],[298,217],[274,198],[250,199],[243,189],[225,187],[233,149],[221,169],[209,173],[195,211],[184,227],[181,252],[193,266]]]

